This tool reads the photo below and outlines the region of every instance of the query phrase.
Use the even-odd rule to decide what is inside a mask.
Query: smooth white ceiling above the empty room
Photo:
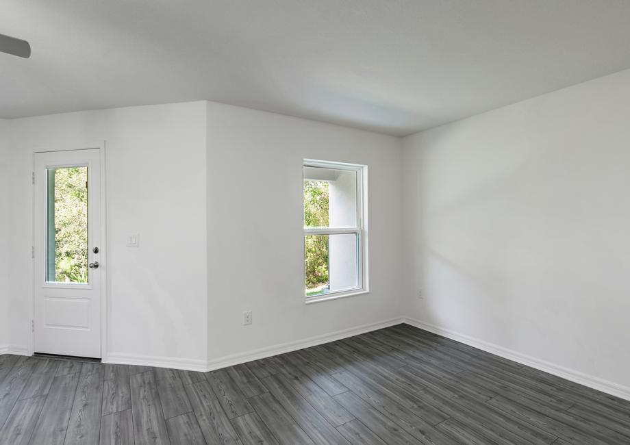
[[[1,0],[0,117],[210,99],[406,135],[630,67],[630,1]]]

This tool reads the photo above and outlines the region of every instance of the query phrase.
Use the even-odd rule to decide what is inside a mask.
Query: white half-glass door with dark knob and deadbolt
[[[101,155],[35,154],[34,352],[101,357]]]

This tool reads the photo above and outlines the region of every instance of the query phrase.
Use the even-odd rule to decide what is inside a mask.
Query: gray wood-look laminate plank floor
[[[630,444],[630,403],[397,325],[214,372],[0,356],[0,444]]]

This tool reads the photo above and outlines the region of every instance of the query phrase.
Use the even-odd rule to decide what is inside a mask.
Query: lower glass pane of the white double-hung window
[[[356,233],[304,236],[306,296],[359,287]]]

